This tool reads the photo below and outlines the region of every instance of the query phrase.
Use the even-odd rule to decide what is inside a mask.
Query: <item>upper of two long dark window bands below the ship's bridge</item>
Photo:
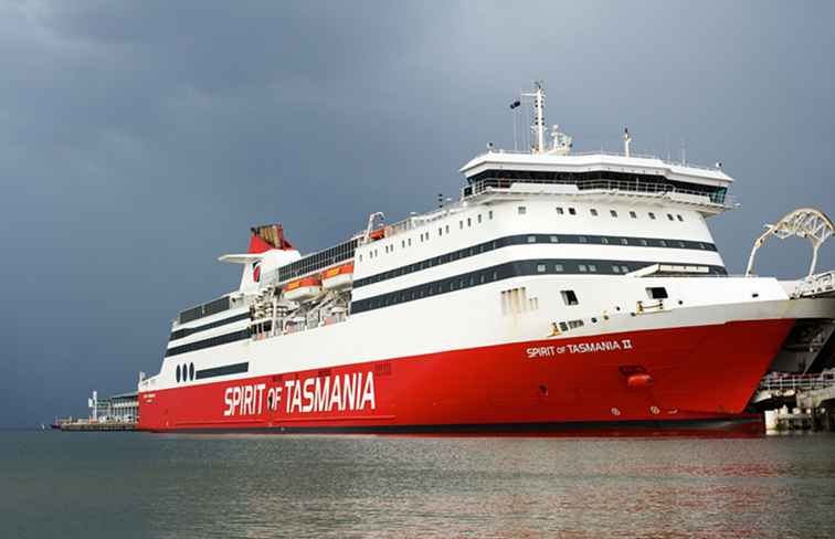
[[[625,243],[624,243],[625,242]],[[660,249],[689,249],[695,251],[716,251],[716,245],[708,242],[694,242],[690,240],[670,240],[660,237],[633,237],[633,236],[610,236],[610,235],[582,235],[582,234],[516,234],[510,236],[498,237],[489,242],[479,243],[471,247],[461,249],[450,253],[415,262],[388,272],[378,273],[357,279],[353,283],[355,288],[380,283],[390,278],[400,277],[410,273],[438,266],[448,262],[467,258],[480,253],[494,251],[510,245],[537,245],[537,244],[589,244],[589,245],[612,245],[612,246],[633,246],[633,247],[660,247]]]

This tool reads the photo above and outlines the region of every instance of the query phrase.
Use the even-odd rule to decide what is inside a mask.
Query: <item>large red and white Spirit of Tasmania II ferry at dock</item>
[[[633,155],[628,133],[623,154],[574,154],[547,133],[542,85],[522,99],[530,151],[488,145],[455,202],[374,213],[306,255],[282,225],[253,228],[220,257],[237,289],[181,311],[140,377],[138,429],[760,429],[744,409],[761,377],[792,360],[799,320],[823,320],[831,347],[835,299],[728,275],[707,224],[734,208],[720,165]]]

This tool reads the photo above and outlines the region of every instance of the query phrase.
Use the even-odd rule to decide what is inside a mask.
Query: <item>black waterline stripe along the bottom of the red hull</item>
[[[559,423],[487,423],[487,424],[437,424],[437,425],[353,425],[353,426],[263,426],[172,429],[156,431],[181,434],[586,434],[586,435],[641,435],[642,433],[683,433],[704,435],[706,432],[727,433],[739,430],[759,432],[762,418],[757,414],[719,416],[701,420],[667,421],[581,421]]]

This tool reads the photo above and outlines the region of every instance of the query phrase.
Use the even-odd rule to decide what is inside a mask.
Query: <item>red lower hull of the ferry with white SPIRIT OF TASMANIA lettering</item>
[[[760,418],[742,412],[793,324],[734,321],[547,339],[147,391],[139,394],[138,429],[760,432]]]

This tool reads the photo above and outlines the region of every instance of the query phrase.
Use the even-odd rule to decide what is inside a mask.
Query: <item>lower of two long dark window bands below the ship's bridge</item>
[[[485,267],[475,272],[463,273],[446,277],[443,279],[423,283],[408,288],[402,288],[388,294],[369,297],[351,302],[351,314],[366,313],[368,310],[391,307],[402,303],[423,299],[424,297],[438,296],[450,292],[471,288],[483,284],[494,283],[511,277],[530,276],[530,275],[623,275],[627,272],[634,272],[655,262],[635,262],[635,261],[605,261],[605,260],[562,260],[562,258],[539,258],[529,261],[506,262],[490,267]],[[657,264],[675,264],[672,262],[659,262]],[[687,264],[685,265],[701,265]],[[582,268],[585,271],[582,271]],[[727,275],[722,266],[707,266],[712,275]],[[592,271],[592,268],[594,271]],[[615,271],[617,268],[617,271]],[[625,268],[625,271],[624,271]]]

